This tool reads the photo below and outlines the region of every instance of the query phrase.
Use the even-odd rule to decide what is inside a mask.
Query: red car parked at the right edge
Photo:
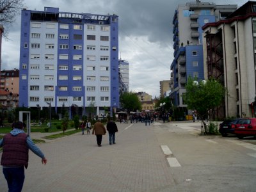
[[[235,129],[237,138],[243,139],[246,136],[256,136],[256,118],[241,118]]]

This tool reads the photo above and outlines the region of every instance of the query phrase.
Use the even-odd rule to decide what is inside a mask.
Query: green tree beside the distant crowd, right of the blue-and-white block
[[[120,95],[120,104],[127,112],[141,110],[141,103],[137,95],[132,92],[124,92]]]

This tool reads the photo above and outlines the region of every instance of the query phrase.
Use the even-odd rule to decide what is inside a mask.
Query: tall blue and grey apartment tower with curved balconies
[[[182,95],[189,76],[204,79],[202,26],[227,17],[237,5],[203,3],[179,4],[173,17],[174,60],[171,65],[170,99],[178,108],[186,108]]]

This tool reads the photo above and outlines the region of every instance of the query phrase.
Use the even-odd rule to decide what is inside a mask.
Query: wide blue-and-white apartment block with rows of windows
[[[118,16],[22,10],[19,106],[119,106]],[[81,110],[80,110],[81,109]]]

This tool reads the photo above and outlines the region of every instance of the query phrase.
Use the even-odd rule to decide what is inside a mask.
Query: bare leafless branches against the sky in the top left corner
[[[3,24],[5,30],[3,36],[7,38],[8,27],[15,21],[20,10],[24,8],[24,0],[4,0],[0,2],[0,23]]]

